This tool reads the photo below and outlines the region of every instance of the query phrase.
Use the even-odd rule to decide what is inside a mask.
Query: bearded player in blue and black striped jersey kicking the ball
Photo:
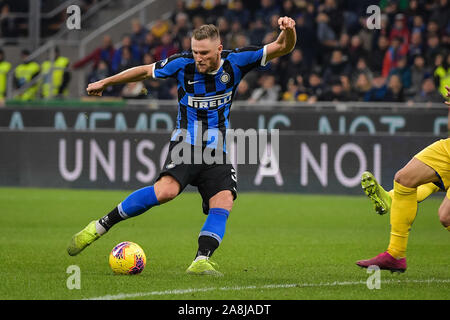
[[[69,255],[80,253],[116,223],[174,199],[190,184],[198,188],[207,218],[198,237],[196,257],[186,272],[222,275],[209,258],[223,239],[226,222],[237,196],[235,171],[228,161],[223,164],[220,161],[213,164],[204,161],[200,164],[186,161],[178,164],[174,161],[176,153],[172,153],[172,150],[187,143],[195,153],[199,146],[198,136],[207,130],[209,139],[206,143],[201,142],[201,150],[212,148],[214,152],[226,157],[225,132],[229,124],[232,98],[239,82],[252,69],[288,54],[295,47],[295,21],[289,17],[281,17],[278,25],[281,32],[275,41],[263,47],[235,50],[223,50],[218,29],[214,25],[203,25],[193,31],[192,52],[175,54],[163,61],[130,68],[88,85],[89,95],[101,96],[108,86],[115,84],[150,77],[175,78],[178,83],[177,126],[171,137],[164,168],[155,184],[136,190],[110,213],[91,221],[75,234],[67,249]],[[200,132],[199,126],[202,127]]]

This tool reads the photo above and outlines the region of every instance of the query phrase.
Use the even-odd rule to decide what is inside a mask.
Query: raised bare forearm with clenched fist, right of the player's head
[[[294,50],[297,42],[297,33],[295,32],[295,21],[289,17],[278,19],[281,33],[278,38],[267,45],[266,61],[284,56]]]

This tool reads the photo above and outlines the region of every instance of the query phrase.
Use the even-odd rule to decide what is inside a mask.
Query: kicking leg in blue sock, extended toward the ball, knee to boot
[[[67,247],[67,253],[71,256],[79,254],[116,223],[172,200],[179,191],[180,185],[170,176],[163,176],[154,186],[136,190],[110,213],[99,220],[91,221],[83,230],[76,233]]]

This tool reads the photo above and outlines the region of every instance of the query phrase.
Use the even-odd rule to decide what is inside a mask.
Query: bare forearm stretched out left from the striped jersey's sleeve
[[[154,64],[142,65],[124,70],[116,75],[90,83],[86,89],[90,96],[101,96],[103,90],[115,84],[137,82],[150,78],[153,74]]]

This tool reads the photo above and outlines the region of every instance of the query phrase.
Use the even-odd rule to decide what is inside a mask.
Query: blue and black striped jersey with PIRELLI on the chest
[[[247,72],[266,64],[266,46],[223,50],[220,68],[212,73],[199,73],[192,53],[175,54],[155,63],[153,78],[174,78],[178,82],[177,140],[184,129],[192,145],[198,135],[208,130],[207,143],[217,147],[217,132],[225,139],[229,129],[230,108],[239,82]],[[201,130],[198,128],[201,125]],[[226,150],[225,141],[223,143]]]

